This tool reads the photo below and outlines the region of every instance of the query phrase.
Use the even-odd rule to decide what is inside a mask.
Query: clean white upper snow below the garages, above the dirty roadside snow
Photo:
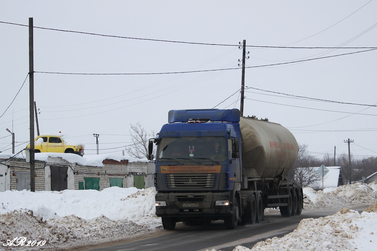
[[[137,193],[135,187],[108,187],[97,190],[56,191],[5,191],[0,193],[0,213],[19,209],[29,209],[44,219],[59,218],[74,214],[83,219],[93,219],[103,214],[112,220],[144,218],[155,214],[156,190],[151,187],[142,190],[143,196],[127,200],[127,196]]]

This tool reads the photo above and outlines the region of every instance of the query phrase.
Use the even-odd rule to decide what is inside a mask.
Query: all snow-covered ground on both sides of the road
[[[42,250],[96,245],[163,231],[155,216],[153,188],[110,187],[62,192],[0,193],[0,242],[15,237],[46,240]],[[375,250],[377,242],[377,181],[316,192],[304,189],[305,210],[374,204],[359,214],[346,208],[319,219],[303,219],[282,238],[267,239],[251,250]],[[28,250],[25,246],[6,250]],[[0,248],[1,250],[1,248]],[[35,247],[34,247],[35,250]],[[235,250],[250,250],[238,246]]]

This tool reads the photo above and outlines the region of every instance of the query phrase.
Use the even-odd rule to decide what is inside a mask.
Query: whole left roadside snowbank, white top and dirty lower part
[[[150,234],[161,229],[155,194],[154,187],[2,192],[0,241],[26,237],[46,240],[43,249],[72,248]]]

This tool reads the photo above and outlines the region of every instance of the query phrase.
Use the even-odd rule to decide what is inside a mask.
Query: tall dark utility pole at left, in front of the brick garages
[[[29,17],[29,111],[30,111],[30,191],[35,192],[34,165],[34,49],[33,18]]]

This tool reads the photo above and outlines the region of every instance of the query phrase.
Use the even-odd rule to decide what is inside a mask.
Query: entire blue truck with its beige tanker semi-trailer
[[[149,141],[157,145],[156,215],[164,229],[224,220],[227,229],[264,220],[264,209],[301,214],[302,188],[286,175],[298,145],[283,126],[238,109],[172,110],[169,123]]]

